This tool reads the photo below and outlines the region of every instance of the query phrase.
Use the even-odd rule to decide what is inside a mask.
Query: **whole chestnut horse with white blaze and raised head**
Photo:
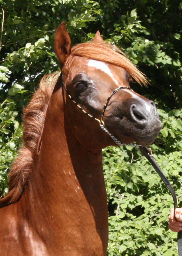
[[[119,141],[147,146],[161,129],[155,104],[129,87],[129,77],[145,77],[99,32],[71,48],[63,22],[55,52],[62,76],[45,76],[25,109],[24,145],[0,200],[1,256],[105,256],[102,148],[116,145],[100,126],[108,96],[122,87],[101,122]]]

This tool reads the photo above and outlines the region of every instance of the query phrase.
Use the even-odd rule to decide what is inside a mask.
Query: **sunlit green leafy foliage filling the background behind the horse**
[[[132,88],[154,100],[163,128],[151,146],[181,204],[181,8],[178,0],[0,0],[0,193],[21,147],[22,108],[42,76],[58,69],[54,33],[65,20],[72,44],[103,38],[119,46],[151,86]],[[171,196],[138,149],[103,150],[108,195],[107,256],[177,256],[167,228]]]

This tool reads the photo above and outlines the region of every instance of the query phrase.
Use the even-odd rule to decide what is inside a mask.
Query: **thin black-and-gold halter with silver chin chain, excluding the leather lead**
[[[106,100],[106,103],[105,103],[105,105],[104,105],[104,107],[103,107],[103,110],[102,110],[102,112],[101,112],[101,119],[99,120],[99,119],[96,118],[95,116],[92,116],[91,114],[87,113],[84,109],[82,109],[82,107],[71,97],[71,95],[69,94],[68,90],[66,89],[66,87],[65,87],[65,85],[64,85],[63,78],[62,78],[62,73],[61,73],[61,75],[60,75],[60,78],[61,78],[61,81],[62,81],[63,88],[64,88],[65,91],[67,92],[68,97],[72,100],[72,102],[75,103],[75,104],[77,105],[77,107],[78,107],[80,110],[83,111],[83,113],[87,114],[89,117],[91,117],[91,118],[95,119],[96,121],[98,121],[99,124],[100,124],[101,129],[102,129],[104,132],[106,132],[118,146],[133,146],[133,147],[139,147],[139,146],[140,146],[140,145],[138,145],[138,144],[122,143],[122,142],[120,142],[114,135],[112,135],[112,134],[107,130],[107,128],[105,127],[105,123],[104,123],[104,121],[103,121],[103,116],[104,116],[105,110],[106,110],[106,108],[107,108],[107,106],[108,106],[108,103],[109,103],[111,97],[112,97],[117,91],[119,91],[119,90],[121,90],[121,89],[129,89],[129,90],[133,91],[130,87],[125,87],[125,86],[118,87],[118,88],[116,88],[116,89],[110,94],[110,96],[109,96],[108,99]]]

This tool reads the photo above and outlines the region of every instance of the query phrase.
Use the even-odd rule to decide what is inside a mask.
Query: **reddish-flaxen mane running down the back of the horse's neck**
[[[23,147],[11,166],[9,192],[0,199],[0,207],[16,202],[30,178],[33,159],[42,133],[49,99],[60,72],[45,75],[27,108],[23,110]]]

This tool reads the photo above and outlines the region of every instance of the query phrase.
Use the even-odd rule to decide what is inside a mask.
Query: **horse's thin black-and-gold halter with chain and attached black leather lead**
[[[81,109],[83,111],[83,113],[87,114],[90,118],[93,118],[95,119],[96,121],[99,122],[100,124],[100,127],[101,129],[103,129],[103,131],[105,131],[112,139],[113,141],[118,145],[118,146],[133,146],[133,147],[138,147],[140,148],[140,151],[141,153],[147,158],[147,160],[150,162],[150,164],[153,166],[153,168],[155,169],[155,171],[157,172],[157,174],[161,177],[162,181],[164,182],[164,184],[166,185],[166,187],[168,188],[168,190],[170,191],[172,197],[173,197],[173,202],[174,202],[174,216],[175,216],[175,210],[176,210],[176,207],[177,207],[177,198],[176,198],[176,194],[175,194],[175,191],[173,189],[173,187],[171,186],[171,184],[169,183],[168,179],[165,177],[165,175],[163,174],[161,168],[159,167],[159,165],[156,163],[155,161],[155,158],[153,157],[153,154],[152,154],[152,151],[150,148],[147,148],[147,147],[143,147],[141,145],[137,145],[137,144],[132,144],[132,143],[128,143],[128,144],[125,144],[125,143],[122,143],[120,142],[114,135],[112,135],[108,130],[107,128],[105,127],[105,123],[103,121],[103,116],[104,116],[104,113],[105,113],[105,110],[108,106],[108,103],[111,99],[111,97],[119,90],[121,89],[129,89],[129,90],[132,90],[131,88],[129,87],[119,87],[119,88],[116,88],[111,94],[110,96],[108,97],[108,99],[106,100],[106,103],[103,107],[103,110],[101,112],[101,119],[99,120],[98,118],[96,118],[95,116],[92,116],[91,114],[87,113],[84,109],[81,108],[81,106],[71,97],[71,95],[68,93],[65,85],[64,85],[64,82],[63,82],[63,79],[62,79],[62,73],[60,74],[60,78],[61,78],[61,81],[62,81],[62,85],[63,85],[63,88],[65,89],[65,91],[67,92],[68,94],[68,97],[72,100],[72,102],[74,102],[77,107],[79,109]],[[132,90],[133,91],[133,90]],[[178,256],[182,256],[182,241],[181,241],[181,237],[182,237],[182,231],[179,231],[178,234],[177,234],[177,244],[178,244]]]

